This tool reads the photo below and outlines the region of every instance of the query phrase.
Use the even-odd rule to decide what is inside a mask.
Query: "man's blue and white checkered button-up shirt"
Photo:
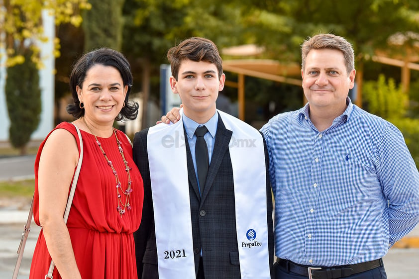
[[[402,134],[347,102],[322,132],[308,105],[261,129],[279,258],[325,267],[371,261],[419,223],[419,174]]]

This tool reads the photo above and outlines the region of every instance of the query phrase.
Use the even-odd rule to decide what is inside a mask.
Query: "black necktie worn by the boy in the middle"
[[[207,142],[204,135],[208,132],[207,127],[201,126],[195,130],[197,143],[195,145],[195,159],[197,161],[198,181],[200,183],[201,194],[204,191],[205,181],[207,180],[208,167],[210,165],[208,158]]]

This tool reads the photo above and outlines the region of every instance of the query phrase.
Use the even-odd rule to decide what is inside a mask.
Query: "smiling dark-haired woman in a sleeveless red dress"
[[[81,130],[84,158],[67,224],[63,220],[80,142],[71,123],[59,124],[35,162],[34,219],[42,227],[30,279],[136,279],[132,233],[141,221],[143,182],[126,135],[114,120],[135,119],[128,102],[132,74],[119,52],[101,48],[75,64],[67,111]]]

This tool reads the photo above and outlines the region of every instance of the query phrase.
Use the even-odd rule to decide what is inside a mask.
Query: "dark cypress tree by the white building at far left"
[[[9,140],[13,147],[26,153],[26,145],[39,125],[41,113],[41,89],[36,65],[30,51],[24,54],[23,64],[7,68],[6,102],[10,118]]]

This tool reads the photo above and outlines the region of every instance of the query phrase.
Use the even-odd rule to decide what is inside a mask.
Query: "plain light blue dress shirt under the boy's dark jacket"
[[[205,134],[204,139],[207,142],[208,158],[211,164],[212,150],[214,149],[214,143],[215,143],[215,132],[217,131],[217,125],[218,125],[218,113],[215,112],[215,114],[210,118],[210,120],[208,120],[208,122],[204,124],[198,124],[197,122],[195,122],[194,120],[192,120],[191,118],[183,114],[183,112],[182,112],[182,119],[183,119],[183,125],[186,130],[186,134],[188,136],[188,143],[189,143],[189,148],[191,150],[192,162],[194,163],[195,175],[198,178],[197,160],[195,158],[195,144],[197,142],[197,136],[195,135],[195,130],[199,126],[204,126],[204,125],[208,129],[208,132]],[[198,182],[198,187],[200,188],[200,191],[201,191],[201,187],[200,187],[200,183],[198,179],[197,179],[197,182]]]

